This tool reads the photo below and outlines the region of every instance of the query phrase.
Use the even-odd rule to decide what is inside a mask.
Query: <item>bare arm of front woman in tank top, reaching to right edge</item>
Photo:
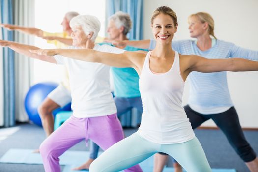
[[[198,72],[256,71],[258,70],[258,61],[243,58],[207,59],[191,55],[189,56],[189,70]]]

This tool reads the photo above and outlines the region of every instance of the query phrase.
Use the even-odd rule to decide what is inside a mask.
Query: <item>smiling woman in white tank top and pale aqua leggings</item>
[[[101,154],[91,164],[90,172],[118,172],[157,152],[171,155],[187,172],[211,172],[181,105],[184,81],[192,71],[258,70],[258,62],[255,61],[206,59],[173,51],[171,43],[177,31],[177,18],[169,7],[159,7],[154,11],[151,28],[157,45],[147,55],[142,52],[112,54],[92,49],[31,50],[48,56],[59,54],[114,67],[132,67],[140,76],[143,117],[139,130]]]

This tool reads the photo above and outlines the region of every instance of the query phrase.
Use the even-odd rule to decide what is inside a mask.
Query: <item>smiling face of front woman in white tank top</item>
[[[170,15],[160,13],[151,24],[153,37],[161,44],[171,43],[174,33],[177,31],[174,21]]]

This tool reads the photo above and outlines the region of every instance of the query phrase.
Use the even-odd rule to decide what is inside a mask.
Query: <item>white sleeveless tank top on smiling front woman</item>
[[[148,52],[139,79],[143,115],[139,130],[143,138],[159,144],[183,143],[195,137],[182,107],[184,81],[180,73],[179,55],[168,72],[150,71]]]

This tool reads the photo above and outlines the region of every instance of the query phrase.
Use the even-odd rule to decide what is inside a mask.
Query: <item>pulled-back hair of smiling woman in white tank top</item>
[[[155,9],[155,11],[152,13],[152,16],[151,16],[151,24],[153,24],[153,20],[161,13],[165,15],[169,15],[173,19],[174,25],[176,27],[178,26],[175,12],[170,7],[167,7],[167,6],[161,6]]]

